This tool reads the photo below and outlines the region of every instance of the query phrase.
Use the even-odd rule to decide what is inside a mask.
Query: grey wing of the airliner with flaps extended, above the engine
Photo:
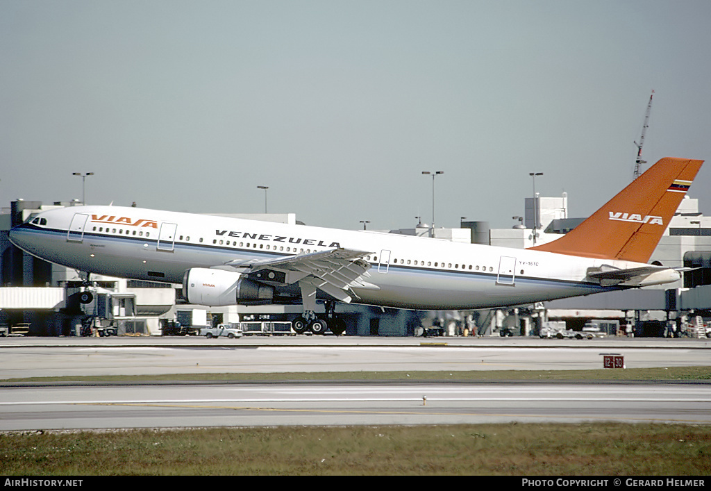
[[[299,283],[302,292],[304,289],[309,292],[309,297],[314,297],[314,288],[319,288],[341,302],[351,302],[355,295],[353,287],[378,289],[364,279],[370,276],[370,264],[363,260],[368,254],[363,250],[338,248],[248,263],[230,261],[225,266],[240,269],[263,283]]]

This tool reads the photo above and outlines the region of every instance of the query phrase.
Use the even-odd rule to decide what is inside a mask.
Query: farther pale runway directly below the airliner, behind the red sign
[[[0,338],[0,381],[48,376],[711,366],[711,339]]]

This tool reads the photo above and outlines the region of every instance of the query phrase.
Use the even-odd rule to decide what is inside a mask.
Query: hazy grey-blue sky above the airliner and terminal
[[[404,228],[711,158],[708,1],[0,1],[0,201]],[[690,195],[711,214],[711,163]]]

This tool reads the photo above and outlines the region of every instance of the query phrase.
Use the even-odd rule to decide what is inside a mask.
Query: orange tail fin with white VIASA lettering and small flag
[[[565,236],[531,249],[646,263],[702,163],[661,159]]]

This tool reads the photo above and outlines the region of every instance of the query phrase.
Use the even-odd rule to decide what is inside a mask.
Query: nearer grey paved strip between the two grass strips
[[[0,431],[203,426],[711,423],[710,384],[298,382],[0,389]]]

